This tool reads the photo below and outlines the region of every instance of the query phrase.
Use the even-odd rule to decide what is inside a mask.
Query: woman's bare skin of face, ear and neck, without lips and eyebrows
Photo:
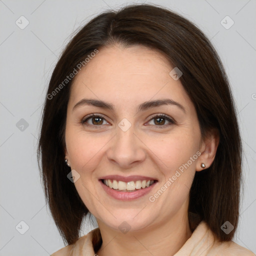
[[[172,68],[157,51],[112,45],[100,49],[75,76],[67,106],[65,154],[80,175],[74,183],[77,192],[97,219],[102,236],[99,256],[173,255],[191,236],[189,189],[195,171],[202,170],[201,162],[206,168],[212,163],[218,137],[208,132],[202,139],[193,103],[180,80],[169,75]],[[73,110],[83,98],[106,101],[114,110],[91,105]],[[144,101],[165,98],[178,102],[184,111],[167,104],[137,110]],[[93,118],[81,123],[92,113],[105,119],[100,124]],[[157,124],[157,114],[174,123],[163,119]],[[127,131],[118,126],[123,118],[131,124]],[[150,202],[148,197],[197,151],[200,156]],[[99,177],[110,174],[143,175],[158,182],[149,194],[122,201],[110,197],[99,183]],[[118,228],[123,221],[130,226],[127,233]]]

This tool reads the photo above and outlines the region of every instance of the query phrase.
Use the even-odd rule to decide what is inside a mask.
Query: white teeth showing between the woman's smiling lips
[[[116,191],[122,191],[122,192],[134,192],[139,189],[143,189],[146,187],[151,186],[153,183],[157,182],[157,180],[135,180],[135,181],[120,181],[115,179],[101,179],[101,182],[108,186],[109,188],[112,188]]]

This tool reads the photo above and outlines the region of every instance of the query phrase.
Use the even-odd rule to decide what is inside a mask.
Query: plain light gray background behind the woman
[[[244,150],[244,194],[234,241],[256,252],[256,0],[153,3],[196,23],[211,38],[225,66],[239,113]],[[99,12],[123,4],[127,1],[0,0],[0,255],[48,255],[64,246],[45,206],[36,163],[46,86],[75,29]],[[24,29],[20,26],[27,21],[19,18],[21,15],[29,21]],[[234,21],[228,29],[231,19],[221,23],[227,15]],[[24,234],[19,232],[25,231],[26,224],[20,221],[29,226]],[[86,225],[83,232],[91,228],[92,224]]]

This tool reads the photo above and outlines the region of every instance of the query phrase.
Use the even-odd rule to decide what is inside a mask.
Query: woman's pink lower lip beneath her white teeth
[[[140,188],[133,192],[123,192],[116,191],[115,189],[106,186],[101,180],[99,180],[99,182],[107,194],[118,200],[134,200],[139,197],[142,197],[143,195],[147,194],[156,183],[154,182],[152,185],[148,187]]]

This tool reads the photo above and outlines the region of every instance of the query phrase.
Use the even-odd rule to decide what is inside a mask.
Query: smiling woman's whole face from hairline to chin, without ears
[[[115,45],[100,49],[74,79],[65,153],[99,224],[140,230],[187,216],[201,134],[172,69],[156,51]]]

